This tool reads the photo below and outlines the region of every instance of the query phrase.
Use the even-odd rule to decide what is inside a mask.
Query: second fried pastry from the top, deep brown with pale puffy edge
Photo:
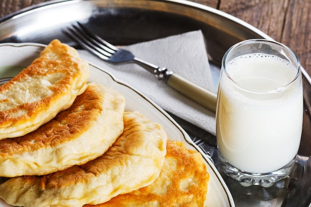
[[[124,97],[89,83],[73,105],[36,131],[0,140],[0,176],[45,175],[102,155],[123,132]]]

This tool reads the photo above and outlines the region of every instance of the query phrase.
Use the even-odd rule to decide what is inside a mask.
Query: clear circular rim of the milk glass
[[[295,75],[295,77],[290,81],[288,82],[287,84],[281,86],[281,87],[277,87],[277,88],[274,88],[272,90],[255,90],[255,89],[250,89],[250,88],[247,88],[239,83],[237,83],[232,77],[231,75],[228,73],[227,69],[226,69],[226,59],[228,57],[228,55],[230,54],[230,52],[239,47],[239,46],[242,46],[242,45],[245,45],[245,44],[249,44],[249,43],[259,43],[259,42],[262,42],[262,43],[272,43],[272,44],[276,44],[278,46],[281,46],[283,48],[285,48],[286,50],[288,50],[295,58],[295,60],[297,61],[297,65],[298,65],[298,69],[297,69],[297,73]],[[296,67],[295,67],[296,68]],[[252,93],[259,93],[259,94],[267,94],[267,93],[277,93],[277,92],[280,92],[280,91],[283,91],[285,88],[287,88],[289,85],[291,85],[293,82],[295,82],[295,80],[298,79],[298,77],[300,76],[301,72],[302,72],[302,69],[301,69],[301,63],[300,63],[300,60],[297,56],[297,54],[292,50],[290,49],[288,46],[282,44],[282,43],[279,43],[277,41],[273,41],[273,40],[267,40],[267,39],[248,39],[248,40],[244,40],[244,41],[241,41],[241,42],[238,42],[236,44],[234,44],[232,47],[230,47],[223,59],[222,59],[222,67],[221,67],[221,70],[223,71],[223,73],[227,76],[227,78],[233,82],[233,84],[235,84],[236,86],[238,86],[240,89],[244,90],[244,91],[248,91],[248,92],[252,92]]]

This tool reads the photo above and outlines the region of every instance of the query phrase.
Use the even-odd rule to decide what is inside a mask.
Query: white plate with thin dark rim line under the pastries
[[[36,43],[3,43],[0,44],[0,77],[12,77],[21,68],[31,64],[39,57],[45,46]],[[185,131],[155,103],[134,90],[129,85],[115,79],[103,69],[90,65],[91,75],[89,81],[115,88],[124,95],[127,111],[139,111],[152,121],[163,126],[168,138],[186,143],[187,147],[203,154],[207,171],[210,174],[208,185],[207,207],[234,207],[234,202],[228,187],[213,163],[204,156],[200,148],[196,147]],[[10,207],[0,201],[0,207]]]

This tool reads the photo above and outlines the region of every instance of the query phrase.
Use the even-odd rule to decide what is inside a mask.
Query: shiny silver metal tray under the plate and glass
[[[117,45],[129,45],[192,30],[202,30],[209,60],[216,70],[233,44],[269,36],[219,10],[186,0],[69,0],[49,1],[0,19],[0,43],[48,44],[60,39],[77,47],[62,30],[80,21]],[[311,207],[311,78],[303,69],[304,125],[299,156],[290,178],[271,188],[242,187],[223,175],[236,207]],[[209,144],[217,165],[216,138],[171,115],[198,144]]]

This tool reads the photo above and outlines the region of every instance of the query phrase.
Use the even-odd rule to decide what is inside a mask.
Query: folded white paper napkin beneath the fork
[[[167,68],[215,91],[203,34],[200,30],[124,47],[136,57]],[[112,65],[80,50],[81,58],[127,82],[164,110],[215,135],[215,113],[177,92],[136,64]]]

